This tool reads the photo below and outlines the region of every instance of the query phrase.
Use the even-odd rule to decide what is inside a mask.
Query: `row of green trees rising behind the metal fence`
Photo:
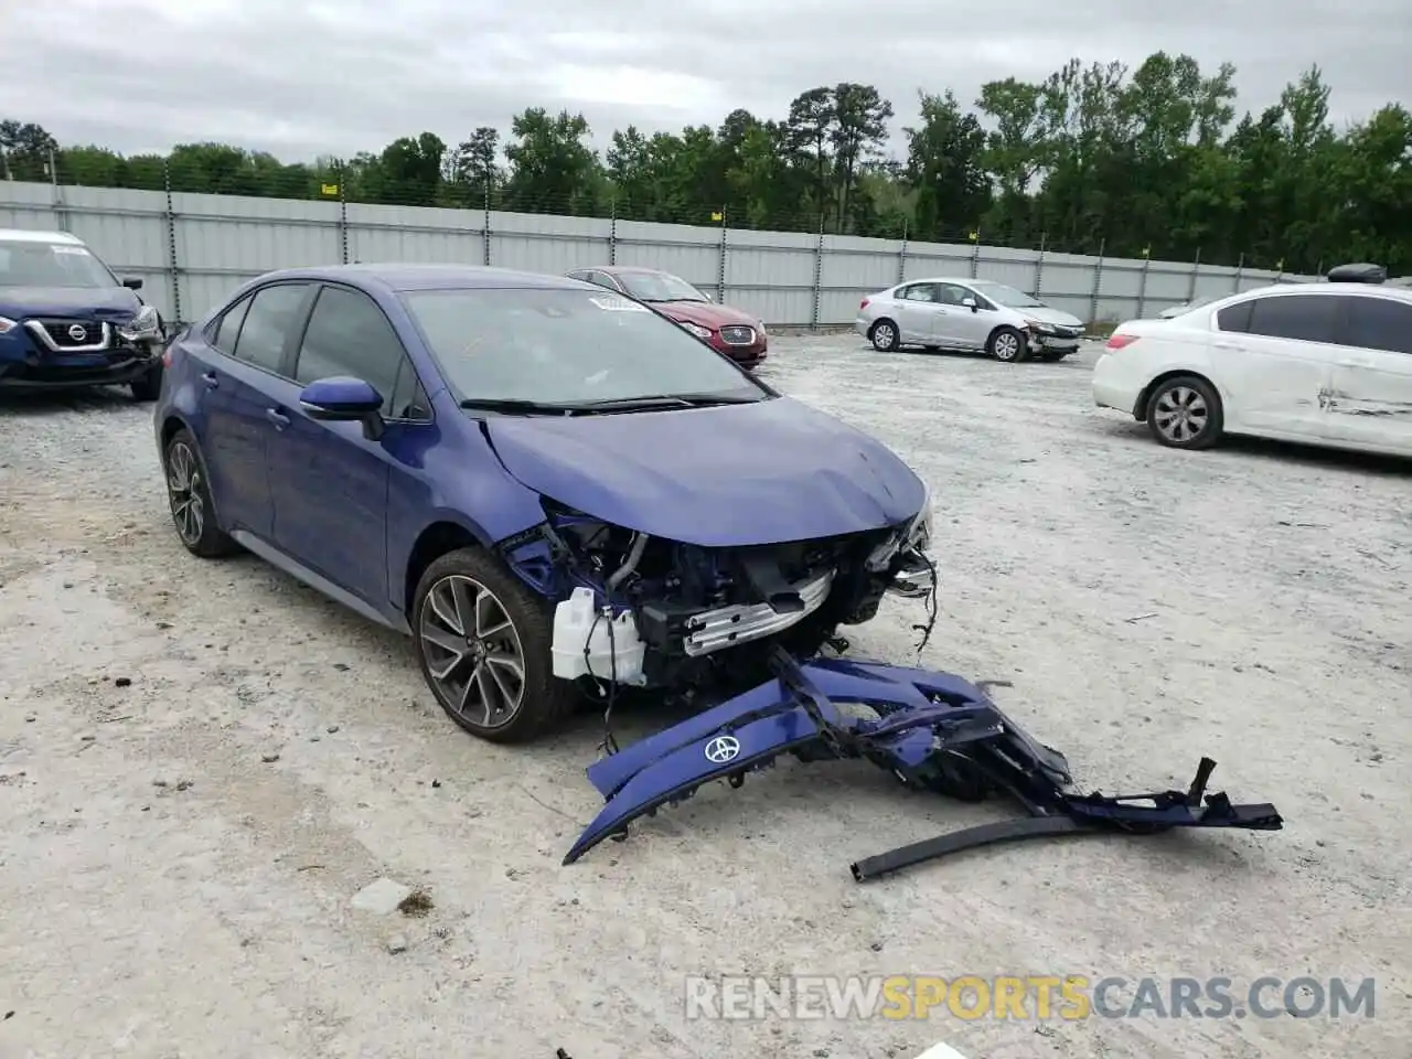
[[[1237,119],[1236,68],[1155,52],[1137,69],[1070,59],[1041,82],[919,92],[904,143],[870,85],[801,93],[784,117],[617,130],[530,107],[510,136],[424,131],[380,152],[284,164],[222,143],[123,157],[0,121],[13,179],[275,198],[617,216],[912,240],[1046,246],[1110,257],[1313,271],[1377,261],[1412,273],[1412,114],[1389,103],[1347,128],[1317,66]],[[899,148],[899,150],[898,150]]]

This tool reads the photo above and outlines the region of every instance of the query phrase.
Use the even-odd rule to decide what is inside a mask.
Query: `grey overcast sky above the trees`
[[[614,127],[781,117],[858,80],[914,120],[918,89],[1066,59],[1187,52],[1260,109],[1317,62],[1336,121],[1412,103],[1412,0],[0,0],[0,107],[123,152],[219,140],[288,161],[457,143],[527,106]],[[13,112],[13,113],[10,113]]]

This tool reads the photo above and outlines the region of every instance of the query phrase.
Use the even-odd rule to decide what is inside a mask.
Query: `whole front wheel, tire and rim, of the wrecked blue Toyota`
[[[462,602],[474,602],[456,603],[457,592]],[[467,614],[448,614],[448,604]],[[489,623],[484,634],[477,635],[476,628],[467,633],[469,614]],[[466,637],[459,658],[446,645],[456,641],[457,624]],[[544,736],[578,702],[575,685],[554,675],[551,607],[480,548],[448,552],[422,573],[412,603],[412,642],[422,678],[446,716],[490,743],[528,743]],[[520,665],[518,679],[510,661]],[[438,672],[442,676],[436,676]],[[483,693],[487,686],[490,692]],[[504,709],[494,709],[497,703]],[[497,717],[497,713],[505,716]]]

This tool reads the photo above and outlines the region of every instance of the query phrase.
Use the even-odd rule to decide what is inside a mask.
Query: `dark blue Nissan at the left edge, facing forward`
[[[76,236],[0,229],[0,390],[127,384],[152,401],[162,319]]]

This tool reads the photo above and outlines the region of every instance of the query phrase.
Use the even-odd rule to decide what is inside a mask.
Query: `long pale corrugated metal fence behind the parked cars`
[[[767,325],[837,326],[902,280],[979,277],[1089,322],[1313,277],[1197,261],[1086,257],[984,244],[755,232],[607,217],[258,199],[0,181],[0,227],[72,232],[174,322],[201,319],[273,268],[350,261],[470,263],[559,274],[662,268]]]

